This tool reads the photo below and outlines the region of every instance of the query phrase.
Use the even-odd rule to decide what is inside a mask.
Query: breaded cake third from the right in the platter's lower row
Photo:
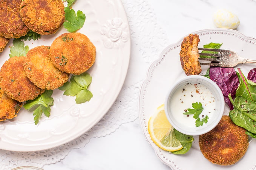
[[[33,100],[43,92],[26,76],[23,60],[24,57],[11,57],[3,64],[0,71],[2,90],[19,102]]]

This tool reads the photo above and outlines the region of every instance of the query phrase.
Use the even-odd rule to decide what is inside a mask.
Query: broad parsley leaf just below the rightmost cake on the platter
[[[64,95],[76,96],[76,103],[81,104],[93,97],[92,93],[87,89],[92,82],[92,77],[88,73],[80,75],[72,75],[70,82],[67,81],[63,86],[58,89],[64,90]]]

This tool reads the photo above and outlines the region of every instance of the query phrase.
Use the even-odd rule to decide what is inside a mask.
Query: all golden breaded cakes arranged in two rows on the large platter
[[[3,0],[0,14],[5,14],[0,15],[0,52],[11,38],[25,36],[29,30],[40,35],[54,34],[65,20],[61,0]],[[63,41],[63,37],[69,37],[70,41]],[[81,74],[95,62],[95,46],[81,33],[65,33],[54,42],[57,43],[32,48],[26,56],[11,57],[3,64],[0,121],[17,116],[23,102],[35,99],[45,90],[61,87],[68,81],[69,74]],[[63,56],[66,57],[62,66],[55,50],[61,62]]]

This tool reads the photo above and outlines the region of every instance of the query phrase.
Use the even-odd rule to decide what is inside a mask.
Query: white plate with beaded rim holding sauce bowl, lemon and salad
[[[242,35],[238,31],[229,29],[209,29],[193,32],[199,35],[199,47],[210,42],[223,43],[222,49],[236,51],[242,57],[256,59],[256,39]],[[184,35],[187,36],[187,35]],[[252,140],[244,157],[234,165],[221,166],[212,164],[202,155],[199,145],[198,136],[194,136],[192,148],[184,155],[175,155],[159,149],[150,139],[147,131],[147,123],[149,117],[154,113],[156,108],[164,103],[166,93],[169,88],[182,77],[185,73],[181,68],[179,60],[180,45],[183,41],[182,37],[176,44],[169,45],[162,51],[159,59],[152,63],[149,68],[146,80],[141,86],[139,94],[139,120],[141,122],[143,132],[147,141],[155,150],[157,156],[173,170],[248,170],[256,168],[255,147],[256,140]],[[256,65],[239,65],[244,75],[247,76],[251,68]],[[201,75],[204,75],[208,66],[202,67]],[[237,69],[237,67],[235,68]],[[225,106],[225,113],[228,114],[229,109]]]

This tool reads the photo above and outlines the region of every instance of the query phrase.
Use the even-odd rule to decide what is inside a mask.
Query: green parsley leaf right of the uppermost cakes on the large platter
[[[75,32],[83,27],[85,21],[85,14],[82,11],[78,10],[77,14],[75,14],[74,9],[70,9],[68,7],[64,8],[65,11],[65,19],[64,28],[69,32]]]

